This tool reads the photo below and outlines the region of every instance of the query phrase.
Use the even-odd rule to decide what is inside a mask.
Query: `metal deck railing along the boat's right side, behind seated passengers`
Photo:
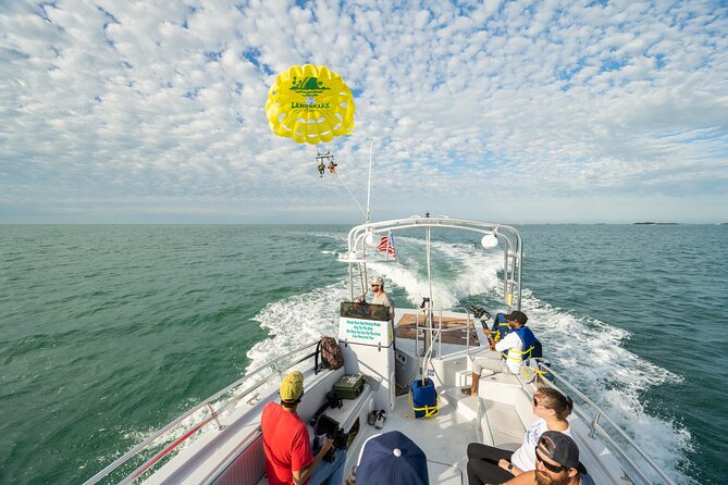
[[[617,453],[619,456],[619,460],[622,463],[626,463],[629,465],[631,471],[642,480],[643,483],[645,484],[652,484],[654,483],[654,480],[649,478],[647,476],[644,475],[643,469],[644,467],[638,465],[631,456],[634,456],[634,453],[639,455],[644,462],[647,464],[647,467],[663,480],[663,483],[666,483],[668,485],[676,485],[676,483],[665,474],[665,472],[661,469],[661,467],[654,462],[652,458],[650,458],[642,449],[640,446],[634,443],[632,438],[630,438],[627,433],[625,433],[617,423],[615,423],[605,412],[602,408],[596,406],[591,399],[589,399],[587,396],[584,396],[579,389],[577,389],[573,385],[571,385],[563,375],[558,374],[556,371],[551,369],[548,365],[545,365],[541,363],[541,366],[543,366],[545,370],[551,372],[554,377],[559,382],[560,385],[569,389],[570,395],[576,395],[581,401],[585,402],[589,405],[589,407],[594,411],[593,415],[590,415],[590,413],[587,412],[585,409],[583,409],[581,406],[575,406],[573,410],[575,412],[581,416],[587,423],[590,423],[590,428],[589,428],[589,436],[593,437],[594,434],[599,434],[602,439],[604,439],[613,450],[613,452]],[[566,394],[563,391],[563,389],[559,388],[559,386],[555,385],[553,382],[543,380],[543,382],[559,391],[562,394]],[[610,427],[619,435],[619,438],[624,442],[624,444],[617,443],[617,440],[600,424],[600,420],[603,420],[607,422]],[[630,448],[630,452],[625,449],[625,445],[627,445]]]

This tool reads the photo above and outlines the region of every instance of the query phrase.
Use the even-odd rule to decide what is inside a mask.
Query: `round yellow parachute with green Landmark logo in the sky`
[[[318,145],[354,130],[354,97],[325,65],[294,65],[268,91],[271,130],[298,144]]]

